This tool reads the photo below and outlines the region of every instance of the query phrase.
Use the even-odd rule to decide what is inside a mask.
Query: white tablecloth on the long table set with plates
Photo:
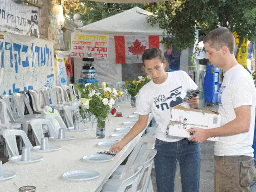
[[[0,192],[17,192],[18,186],[32,185],[35,186],[37,192],[99,192],[103,184],[108,180],[114,170],[122,163],[129,155],[142,136],[141,132],[135,137],[123,150],[118,153],[114,160],[105,163],[88,163],[80,161],[81,157],[87,154],[96,154],[98,151],[107,151],[96,146],[100,141],[111,139],[109,136],[114,132],[114,129],[123,127],[122,122],[132,121],[134,119],[127,118],[130,114],[136,111],[128,104],[121,105],[117,108],[118,112],[123,113],[123,117],[108,116],[106,120],[106,137],[104,139],[96,138],[96,124],[94,128],[85,132],[68,132],[66,136],[74,136],[71,141],[56,142],[49,140],[49,144],[62,146],[59,151],[51,153],[37,153],[31,151],[31,154],[42,155],[44,159],[33,164],[15,164],[6,162],[3,165],[4,170],[16,172],[16,177],[7,181],[0,181]],[[149,122],[153,114],[150,113]],[[113,139],[114,140],[114,139]],[[100,172],[101,176],[90,181],[70,182],[63,180],[60,176],[69,170],[92,169]]]

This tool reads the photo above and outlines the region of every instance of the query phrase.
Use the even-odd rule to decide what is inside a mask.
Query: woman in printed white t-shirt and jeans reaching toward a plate
[[[182,192],[199,192],[201,152],[199,143],[187,138],[166,135],[171,113],[170,107],[182,105],[197,108],[198,97],[182,102],[188,90],[197,85],[185,71],[165,72],[166,61],[161,49],[146,49],[142,55],[144,69],[152,78],[140,89],[136,102],[138,122],[130,132],[110,151],[119,152],[147,125],[149,112],[154,113],[156,124],[155,149],[158,151],[154,162],[158,192],[174,192],[177,161],[180,165]]]

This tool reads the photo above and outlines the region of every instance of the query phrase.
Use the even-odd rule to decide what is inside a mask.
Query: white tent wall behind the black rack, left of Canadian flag
[[[114,36],[109,37],[108,59],[95,59],[93,64],[97,75],[96,78],[99,80],[99,83],[103,81],[113,83],[122,81],[122,65],[116,64]],[[78,84],[78,79],[81,79],[80,74],[83,65],[82,58],[74,58],[75,84]]]

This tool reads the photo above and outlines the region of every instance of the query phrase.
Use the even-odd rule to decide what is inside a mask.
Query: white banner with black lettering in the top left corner
[[[0,30],[13,34],[39,37],[38,7],[0,0]]]

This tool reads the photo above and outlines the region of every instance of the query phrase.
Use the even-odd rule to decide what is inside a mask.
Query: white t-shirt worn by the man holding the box
[[[217,156],[246,155],[253,157],[256,90],[252,76],[240,64],[226,71],[219,91],[219,113],[221,125],[236,118],[235,108],[251,105],[251,124],[247,133],[219,137],[215,143],[214,154]]]

